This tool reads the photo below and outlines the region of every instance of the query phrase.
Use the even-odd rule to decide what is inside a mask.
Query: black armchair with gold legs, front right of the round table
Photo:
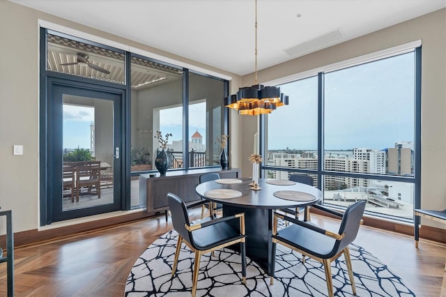
[[[286,217],[280,213],[275,213],[272,226],[272,259],[275,259],[276,257],[276,245],[279,243],[304,255],[302,264],[305,264],[305,256],[323,263],[328,296],[332,297],[333,284],[330,264],[341,254],[344,254],[352,291],[353,294],[356,295],[355,280],[353,279],[353,269],[351,266],[348,245],[355,240],[360,224],[362,224],[365,203],[364,200],[361,200],[357,201],[355,204],[351,204],[351,206],[348,206],[344,214],[332,211],[328,208],[321,208],[323,211],[342,218],[337,233],[318,227],[312,222],[303,222],[295,220],[295,218]],[[315,207],[318,208],[317,205]],[[294,224],[290,224],[289,227],[277,231],[277,218],[288,220]],[[274,276],[275,261],[272,261],[270,275],[271,284],[274,282]]]

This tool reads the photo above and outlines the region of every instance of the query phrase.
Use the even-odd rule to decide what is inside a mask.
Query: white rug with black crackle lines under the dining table
[[[175,230],[152,243],[134,263],[125,296],[190,296],[194,254],[182,245],[176,275],[171,277],[177,243]],[[415,296],[400,277],[358,245],[349,246],[356,296]],[[327,296],[323,265],[277,245],[275,280],[247,257],[246,285],[241,280],[240,254],[224,248],[201,256],[197,296]],[[332,262],[334,296],[354,296],[344,257]]]

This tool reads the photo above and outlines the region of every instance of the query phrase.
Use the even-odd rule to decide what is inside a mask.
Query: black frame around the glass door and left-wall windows
[[[92,45],[95,47],[101,47],[106,50],[112,50],[115,52],[120,52],[122,54],[125,54],[125,83],[124,84],[118,84],[114,82],[105,82],[98,79],[91,79],[86,77],[76,77],[75,75],[69,75],[65,73],[56,73],[51,70],[47,70],[47,34],[52,34],[54,36],[60,36],[63,38],[68,38],[70,40],[75,40],[77,42],[85,43],[87,45]],[[40,150],[40,192],[39,192],[39,200],[40,200],[40,225],[45,226],[46,224],[51,224],[51,209],[47,204],[47,193],[49,190],[51,190],[47,184],[48,184],[48,174],[47,174],[47,168],[48,162],[51,161],[51,156],[47,154],[47,147],[48,143],[51,142],[51,139],[48,139],[48,128],[47,128],[47,121],[49,114],[47,113],[47,108],[50,102],[48,102],[49,98],[47,96],[47,80],[49,77],[56,77],[61,79],[70,80],[72,82],[76,83],[91,83],[98,85],[100,87],[113,87],[116,89],[121,89],[123,93],[125,93],[125,97],[123,100],[123,146],[124,149],[121,151],[123,154],[123,178],[121,179],[124,185],[122,185],[123,195],[125,195],[125,198],[123,199],[123,210],[130,210],[133,208],[139,208],[131,206],[131,199],[130,199],[130,144],[131,144],[131,82],[130,82],[130,74],[131,74],[131,58],[132,56],[138,56],[142,59],[146,59],[149,61],[155,61],[156,63],[162,63],[167,66],[171,66],[174,68],[181,68],[183,69],[183,139],[185,135],[188,135],[188,129],[189,129],[189,115],[188,115],[188,105],[189,105],[189,96],[188,96],[188,73],[196,73],[197,75],[202,75],[205,77],[210,77],[213,79],[218,79],[222,82],[224,82],[224,92],[222,96],[222,107],[224,107],[224,98],[228,96],[229,93],[229,81],[226,79],[222,79],[220,77],[215,77],[213,75],[208,75],[206,73],[200,73],[197,70],[192,70],[189,68],[184,68],[182,66],[177,66],[172,63],[168,63],[165,61],[160,61],[157,59],[152,59],[147,56],[142,56],[141,54],[135,54],[129,51],[121,50],[116,47],[111,47],[109,45],[104,45],[101,43],[95,43],[91,40],[85,39],[85,38],[79,38],[77,36],[72,36],[67,33],[61,33],[59,31],[54,31],[53,29],[47,29],[45,27],[40,27],[40,40],[39,40],[39,51],[40,51],[40,61],[39,61],[39,77],[40,77],[40,91],[39,91],[39,123],[40,123],[40,129],[39,129],[39,150]],[[224,110],[224,134],[228,134],[229,131],[229,112],[226,110],[226,108],[222,108]],[[186,146],[187,144],[184,144],[183,146]],[[229,144],[228,144],[229,145]],[[187,149],[183,149],[183,158],[185,158],[185,153],[187,153]],[[187,160],[187,158],[185,158]],[[217,166],[206,166],[206,167],[217,167]],[[188,170],[189,164],[185,162],[185,166],[181,169],[177,170]]]

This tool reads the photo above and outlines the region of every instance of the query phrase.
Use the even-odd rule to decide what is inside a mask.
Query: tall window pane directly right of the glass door
[[[138,176],[156,170],[155,158],[162,149],[155,138],[158,131],[167,140],[170,169],[184,168],[183,69],[132,56],[130,70],[130,196],[131,206],[137,207]]]

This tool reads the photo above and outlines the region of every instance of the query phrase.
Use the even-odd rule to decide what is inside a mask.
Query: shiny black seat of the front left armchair
[[[240,231],[226,222],[212,224],[202,229],[192,231],[192,238],[197,250],[208,250],[223,243],[233,241],[237,238],[245,237],[240,235]]]

